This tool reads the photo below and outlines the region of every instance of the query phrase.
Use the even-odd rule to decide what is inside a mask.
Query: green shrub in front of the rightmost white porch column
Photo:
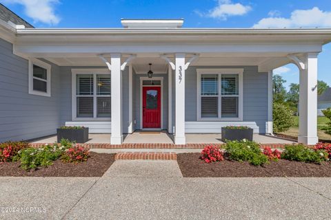
[[[282,159],[294,160],[299,162],[318,163],[328,159],[328,153],[325,150],[308,148],[303,144],[286,145],[281,154]]]

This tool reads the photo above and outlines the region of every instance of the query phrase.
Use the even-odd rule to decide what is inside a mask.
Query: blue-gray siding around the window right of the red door
[[[185,72],[185,122],[197,122],[197,69],[243,68],[243,122],[256,122],[265,133],[268,121],[268,73],[257,66],[188,67]],[[174,81],[173,81],[174,88]]]

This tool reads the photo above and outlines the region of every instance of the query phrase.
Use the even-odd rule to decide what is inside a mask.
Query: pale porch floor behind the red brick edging
[[[186,133],[187,144],[222,144],[219,133]],[[259,144],[292,144],[292,141],[283,140],[269,135],[254,134],[255,142]],[[54,143],[57,142],[57,135],[44,137],[32,141],[32,143]],[[123,144],[173,144],[172,135],[165,132],[134,132],[124,135]],[[89,141],[86,144],[110,144],[110,133],[89,134]]]

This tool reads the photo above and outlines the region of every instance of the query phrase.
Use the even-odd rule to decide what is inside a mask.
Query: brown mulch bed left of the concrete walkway
[[[115,154],[90,152],[88,161],[78,164],[54,161],[52,166],[26,171],[20,162],[0,164],[0,176],[10,177],[101,177],[114,163]]]

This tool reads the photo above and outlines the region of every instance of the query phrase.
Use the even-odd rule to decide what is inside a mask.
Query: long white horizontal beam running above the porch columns
[[[106,54],[112,51],[121,54],[139,54],[139,53],[158,53],[158,54],[173,54],[174,48],[179,51],[185,51],[190,54],[203,54],[203,53],[223,53],[223,54],[244,54],[244,53],[262,53],[262,54],[300,54],[307,52],[321,52],[322,45],[318,43],[301,43],[301,44],[261,44],[261,43],[208,43],[201,44],[195,43],[167,43],[167,44],[134,44],[134,43],[107,43],[107,44],[74,44],[74,43],[59,43],[52,44],[14,44],[14,53],[26,54],[27,56],[79,56],[79,54]],[[94,55],[95,56],[95,55]]]

